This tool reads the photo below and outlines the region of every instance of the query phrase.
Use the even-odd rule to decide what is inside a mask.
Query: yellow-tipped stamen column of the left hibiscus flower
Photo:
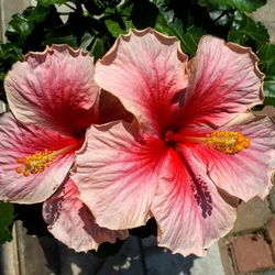
[[[79,143],[69,145],[58,151],[45,148],[44,151],[36,151],[34,154],[25,157],[18,157],[16,163],[22,166],[18,166],[15,170],[18,174],[23,174],[25,177],[31,174],[42,173],[45,168],[51,166],[57,156],[75,151],[77,147],[79,147]]]

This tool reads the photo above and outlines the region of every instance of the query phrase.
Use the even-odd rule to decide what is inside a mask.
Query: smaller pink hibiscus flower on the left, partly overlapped
[[[118,100],[107,94],[99,98],[94,73],[94,59],[66,45],[29,53],[4,80],[18,120],[10,112],[0,117],[0,199],[46,200],[43,216],[48,230],[76,251],[97,249],[101,242],[128,234],[98,227],[68,178],[86,129],[92,122],[108,121],[109,114],[100,112],[105,105],[114,111],[118,107]]]

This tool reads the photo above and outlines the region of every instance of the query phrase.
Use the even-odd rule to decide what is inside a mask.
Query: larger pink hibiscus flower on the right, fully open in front
[[[212,36],[190,62],[175,37],[151,29],[118,38],[95,79],[136,121],[91,127],[72,176],[100,226],[153,216],[160,245],[204,255],[233,226],[228,198],[267,195],[275,129],[248,112],[263,101],[256,61]]]

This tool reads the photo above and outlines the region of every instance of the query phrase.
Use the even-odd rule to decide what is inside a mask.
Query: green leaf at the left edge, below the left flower
[[[10,227],[13,223],[13,205],[0,201],[0,244],[12,240]]]

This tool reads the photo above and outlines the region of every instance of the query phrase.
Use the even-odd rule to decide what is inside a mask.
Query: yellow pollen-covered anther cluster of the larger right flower
[[[241,132],[216,131],[208,134],[206,142],[209,146],[229,155],[249,148],[251,140]]]

